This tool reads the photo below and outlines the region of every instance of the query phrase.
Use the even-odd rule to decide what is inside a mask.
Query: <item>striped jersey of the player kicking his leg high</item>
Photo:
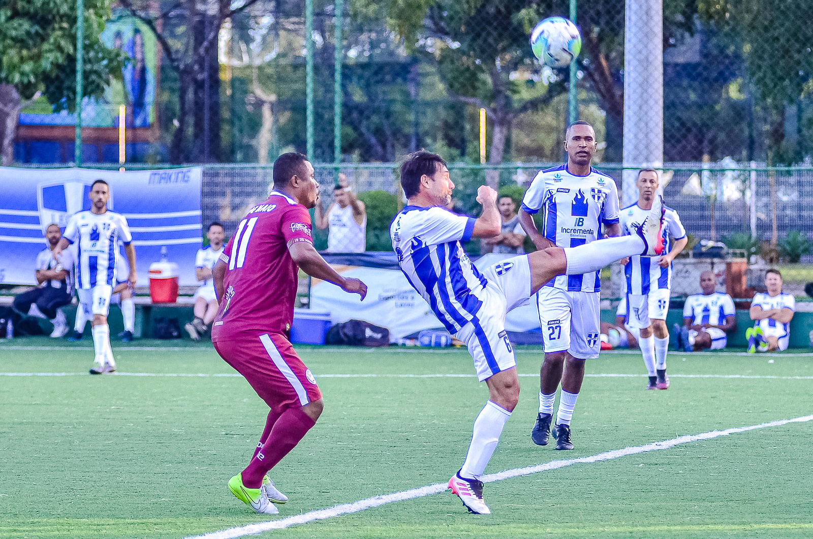
[[[476,318],[488,283],[460,243],[472,238],[474,222],[439,206],[406,206],[389,226],[401,271],[450,333]]]

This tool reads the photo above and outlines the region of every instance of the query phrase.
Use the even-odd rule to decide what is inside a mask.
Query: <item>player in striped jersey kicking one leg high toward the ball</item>
[[[479,218],[451,213],[446,209],[454,189],[449,169],[441,156],[428,151],[418,151],[402,163],[401,185],[408,204],[389,227],[398,264],[446,330],[466,343],[477,378],[489,388],[463,467],[449,480],[449,488],[468,511],[489,514],[480,477],[520,396],[506,313],[556,275],[585,274],[622,256],[654,254],[660,235],[659,204],[653,204],[654,219],[646,221],[637,235],[575,248],[547,248],[508,258],[480,273],[461,242],[500,234],[497,191],[489,186],[477,190],[477,202],[483,207]]]

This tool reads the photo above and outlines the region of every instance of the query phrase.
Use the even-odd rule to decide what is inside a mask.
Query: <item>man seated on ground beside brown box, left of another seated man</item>
[[[683,352],[725,348],[727,334],[737,328],[734,300],[715,291],[717,279],[706,270],[700,274],[702,294],[686,298],[683,327],[675,324],[677,349]]]

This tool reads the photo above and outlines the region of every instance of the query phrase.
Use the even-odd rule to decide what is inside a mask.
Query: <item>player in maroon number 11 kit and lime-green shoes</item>
[[[289,341],[298,268],[342,290],[367,294],[367,286],[343,278],[316,252],[311,215],[319,193],[313,165],[291,152],[274,163],[274,191],[250,208],[212,269],[220,310],[211,330],[215,350],[246,377],[271,408],[254,456],[228,488],[258,513],[278,513],[288,498],[267,477],[302,440],[323,409],[311,370]]]

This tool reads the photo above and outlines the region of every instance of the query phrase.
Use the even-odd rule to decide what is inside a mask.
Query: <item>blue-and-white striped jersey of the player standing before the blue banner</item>
[[[133,235],[127,219],[110,210],[102,214],[75,213],[67,221],[63,238],[76,243],[76,287],[89,290],[98,284],[115,286],[115,253],[119,241],[128,245]]]

